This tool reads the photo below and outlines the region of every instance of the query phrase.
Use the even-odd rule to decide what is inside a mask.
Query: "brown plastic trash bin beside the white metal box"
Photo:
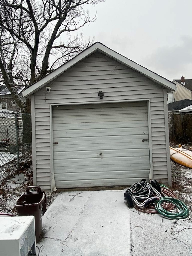
[[[30,188],[37,188],[37,191],[29,192]],[[15,207],[18,216],[35,216],[35,237],[36,242],[38,242],[42,230],[43,215],[46,211],[45,192],[41,191],[40,186],[29,186],[26,193],[17,199]]]

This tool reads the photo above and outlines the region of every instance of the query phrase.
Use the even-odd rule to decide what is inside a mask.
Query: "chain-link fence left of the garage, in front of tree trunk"
[[[31,114],[0,111],[0,183],[31,161]]]

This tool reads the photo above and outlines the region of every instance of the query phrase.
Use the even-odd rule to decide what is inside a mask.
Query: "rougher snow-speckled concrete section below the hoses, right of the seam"
[[[159,214],[143,214],[133,209],[130,220],[132,256],[192,255],[189,219],[169,220]]]

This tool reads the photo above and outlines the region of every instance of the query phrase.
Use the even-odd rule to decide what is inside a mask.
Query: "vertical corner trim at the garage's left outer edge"
[[[31,123],[32,123],[32,161],[33,161],[33,185],[37,185],[37,170],[36,170],[36,143],[35,143],[35,99],[31,95]]]

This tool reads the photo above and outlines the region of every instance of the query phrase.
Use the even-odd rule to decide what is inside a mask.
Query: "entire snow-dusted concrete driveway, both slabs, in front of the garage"
[[[43,216],[39,255],[192,255],[189,219],[168,220],[129,209],[123,194],[61,192]]]

